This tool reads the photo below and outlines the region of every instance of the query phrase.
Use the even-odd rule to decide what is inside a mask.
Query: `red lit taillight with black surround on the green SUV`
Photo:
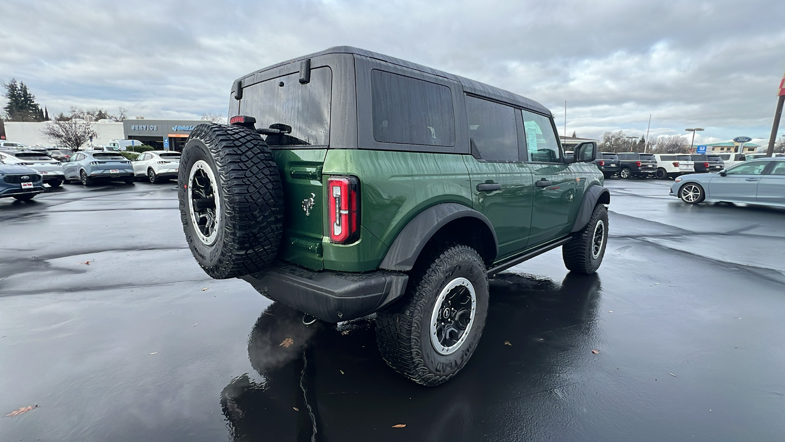
[[[327,219],[330,241],[347,244],[360,233],[360,182],[353,176],[327,179]]]

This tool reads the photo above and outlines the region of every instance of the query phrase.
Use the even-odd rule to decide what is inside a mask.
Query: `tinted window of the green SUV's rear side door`
[[[517,161],[515,109],[480,98],[466,97],[469,143],[473,155],[488,161]]]

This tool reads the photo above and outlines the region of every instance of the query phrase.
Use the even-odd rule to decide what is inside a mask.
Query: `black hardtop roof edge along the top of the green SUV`
[[[361,55],[363,57],[374,58],[376,60],[385,61],[390,64],[396,64],[398,66],[402,66],[403,68],[410,68],[413,69],[414,71],[425,72],[433,76],[440,76],[446,79],[452,79],[457,81],[458,83],[461,83],[463,86],[463,90],[465,90],[469,94],[481,95],[483,97],[491,98],[497,101],[503,101],[511,105],[520,105],[524,108],[531,109],[536,112],[544,113],[548,116],[551,115],[550,110],[548,110],[545,106],[539,104],[537,101],[531,100],[522,95],[513,94],[512,92],[509,92],[509,90],[499,89],[498,87],[493,87],[485,83],[480,83],[479,81],[475,81],[473,79],[467,79],[466,77],[456,76],[455,74],[440,71],[434,68],[429,68],[428,66],[423,66],[422,64],[412,63],[411,61],[401,60],[400,58],[390,57],[389,55],[385,55],[383,53],[371,52],[370,50],[364,50],[353,46],[333,46],[331,48],[316,53],[309,53],[308,55],[304,55],[302,57],[296,57],[296,58],[292,58],[291,60],[282,61],[281,63],[272,64],[272,66],[268,66],[266,68],[259,69],[258,71],[251,72],[250,74],[246,76],[242,76],[239,79],[245,79],[247,77],[253,76],[254,74],[257,74],[258,72],[265,72],[272,68],[278,68],[279,66],[283,66],[284,64],[290,64],[296,61],[305,60],[311,57],[318,57],[320,55],[327,55],[330,53],[352,53],[356,55]]]

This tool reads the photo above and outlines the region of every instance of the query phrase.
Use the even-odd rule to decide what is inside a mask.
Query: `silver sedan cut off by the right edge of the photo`
[[[682,175],[670,186],[670,195],[687,204],[725,201],[785,208],[785,158],[747,160],[724,171]]]

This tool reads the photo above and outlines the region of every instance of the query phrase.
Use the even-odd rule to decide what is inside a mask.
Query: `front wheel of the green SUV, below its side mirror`
[[[608,208],[597,204],[589,223],[572,238],[572,241],[561,246],[564,267],[569,271],[582,274],[593,274],[600,268],[608,245]]]

